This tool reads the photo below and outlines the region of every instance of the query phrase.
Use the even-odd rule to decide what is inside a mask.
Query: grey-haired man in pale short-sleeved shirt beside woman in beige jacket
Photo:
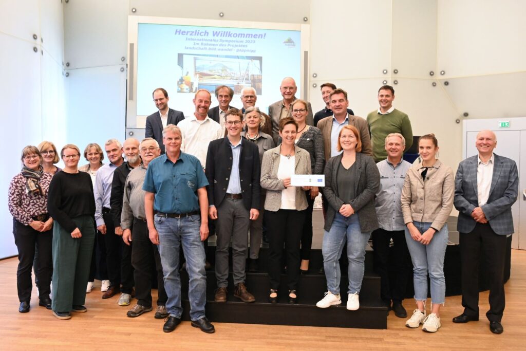
[[[387,135],[385,139],[387,159],[376,164],[380,172],[380,187],[376,193],[375,207],[380,228],[372,232],[375,272],[381,279],[380,297],[399,318],[407,317],[402,300],[411,273],[411,256],[407,249],[400,202],[406,172],[411,167],[409,162],[402,159],[404,147],[406,147],[406,139],[400,133]],[[391,238],[394,244],[392,262],[389,260]],[[389,267],[395,270],[394,279],[391,281]]]

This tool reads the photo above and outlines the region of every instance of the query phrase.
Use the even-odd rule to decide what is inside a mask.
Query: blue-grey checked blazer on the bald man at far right
[[[517,200],[519,192],[519,174],[517,164],[510,158],[495,155],[493,176],[491,177],[488,202],[480,206],[495,234],[513,233],[511,205]],[[459,164],[455,178],[454,205],[459,210],[457,230],[470,233],[476,220],[471,212],[479,206],[477,190],[478,155],[464,159]]]

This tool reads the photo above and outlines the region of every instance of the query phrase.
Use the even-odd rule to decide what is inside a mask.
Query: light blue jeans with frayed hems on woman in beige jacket
[[[431,223],[413,222],[420,233],[426,232]],[[444,279],[444,256],[448,245],[448,225],[436,232],[428,245],[413,240],[406,228],[406,242],[413,263],[414,299],[425,301],[428,296],[428,272],[431,280],[431,303],[443,304],[446,297]]]

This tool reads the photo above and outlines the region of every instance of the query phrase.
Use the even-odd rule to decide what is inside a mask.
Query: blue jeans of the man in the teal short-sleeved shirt
[[[179,248],[183,245],[186,271],[189,276],[188,298],[190,319],[205,317],[206,272],[205,248],[199,235],[201,217],[193,215],[168,218],[155,215],[155,228],[159,234],[159,254],[163,265],[164,285],[168,300],[166,309],[170,316],[181,318],[181,279],[179,276]]]

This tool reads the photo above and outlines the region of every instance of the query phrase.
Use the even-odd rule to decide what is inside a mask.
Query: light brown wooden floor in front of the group
[[[0,349],[524,350],[526,251],[512,250],[511,260],[512,273],[505,286],[507,308],[501,335],[489,331],[484,316],[488,309],[488,292],[480,295],[480,321],[463,325],[451,322],[452,317],[462,312],[460,296],[447,297],[441,312],[442,327],[435,334],[405,327],[405,319],[395,317],[392,312],[387,330],[215,323],[216,333],[205,334],[191,327],[189,322],[183,322],[174,332],[165,334],[163,320],[154,319],[153,312],[128,318],[128,307],[118,306],[117,297],[101,299],[100,282],[96,282],[97,289],[87,295],[88,312],[75,314],[72,319],[58,320],[49,310],[38,307],[35,289],[29,313],[18,313],[17,259],[10,258],[0,261]],[[408,313],[414,308],[409,299],[404,305]]]

